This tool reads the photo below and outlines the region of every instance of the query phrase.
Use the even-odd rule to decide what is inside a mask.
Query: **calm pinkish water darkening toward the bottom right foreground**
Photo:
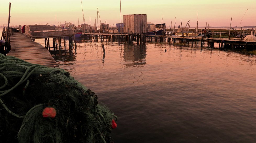
[[[256,141],[256,56],[134,44],[77,39],[77,49],[50,50],[118,116],[115,143]]]

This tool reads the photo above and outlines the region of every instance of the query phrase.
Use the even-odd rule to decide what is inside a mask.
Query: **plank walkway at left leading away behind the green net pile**
[[[59,68],[46,48],[20,32],[13,32],[13,35],[10,36],[10,45],[11,50],[7,54],[8,56],[15,56],[33,64]]]

